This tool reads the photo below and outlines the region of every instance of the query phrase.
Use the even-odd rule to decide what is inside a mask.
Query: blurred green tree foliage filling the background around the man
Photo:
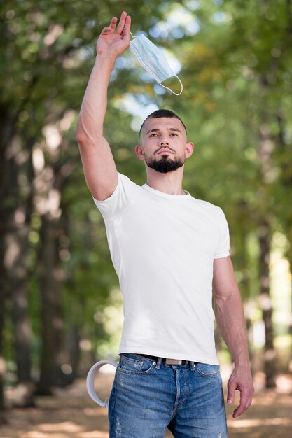
[[[30,181],[31,150],[34,162],[26,255],[34,364],[39,359],[43,216],[54,217],[60,230],[55,237],[57,269],[67,329],[72,322],[81,327],[81,337],[92,341],[97,355],[104,354],[107,346],[109,350],[116,346],[113,333],[96,315],[112,308],[118,280],[102,218],[85,186],[74,129],[97,36],[122,8],[132,15],[134,34],[147,32],[176,57],[184,91],[175,97],[162,89],[137,66],[130,52],[120,58],[109,87],[104,127],[118,170],[144,182],[144,167],[134,155],[137,129],[131,127],[144,119],[147,108],[172,108],[186,122],[188,137],[195,143],[193,158],[186,163],[185,188],[225,211],[244,297],[258,295],[260,220],[265,218],[272,232],[286,235],[290,244],[284,253],[292,263],[289,1],[145,0],[138,8],[132,0],[4,2],[0,6],[1,148],[9,153],[16,150],[22,190],[21,197],[8,194],[9,208],[30,202],[23,181]],[[171,84],[176,87],[176,82]],[[127,101],[136,102],[136,109]],[[52,210],[48,200],[56,192],[60,204]],[[11,332],[6,330],[4,336],[7,346]],[[11,346],[8,350],[11,357]]]

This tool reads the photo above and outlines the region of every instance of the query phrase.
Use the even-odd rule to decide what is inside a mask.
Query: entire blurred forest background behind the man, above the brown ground
[[[117,357],[123,302],[75,129],[97,36],[122,10],[183,94],[130,50],[117,60],[104,135],[118,171],[144,183],[141,122],[179,114],[195,143],[184,188],[228,219],[255,380],[292,388],[291,0],[11,0],[0,6],[2,421],[4,407],[34,406]],[[230,364],[217,331],[216,344]]]

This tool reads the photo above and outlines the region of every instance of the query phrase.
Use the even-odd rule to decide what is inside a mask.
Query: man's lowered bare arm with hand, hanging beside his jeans
[[[235,362],[228,381],[227,402],[233,403],[235,390],[239,390],[239,406],[233,412],[233,416],[238,417],[251,405],[253,381],[242,299],[230,257],[214,260],[213,290],[218,328]]]

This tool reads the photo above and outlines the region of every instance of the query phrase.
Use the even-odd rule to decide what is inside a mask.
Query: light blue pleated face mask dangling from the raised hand
[[[176,74],[169,67],[167,59],[162,50],[156,47],[156,45],[153,44],[146,36],[134,36],[130,41],[130,50],[132,50],[134,55],[136,55],[144,69],[148,71],[148,73],[150,73],[162,87],[165,87],[165,85],[162,85],[163,80],[171,78],[172,76],[176,76]],[[179,96],[183,92],[183,84],[178,76],[176,76],[176,78],[178,78],[179,83],[181,84],[181,91],[179,93],[175,93],[169,87],[165,88],[167,88],[167,90],[171,91],[173,94],[176,94],[176,96]]]

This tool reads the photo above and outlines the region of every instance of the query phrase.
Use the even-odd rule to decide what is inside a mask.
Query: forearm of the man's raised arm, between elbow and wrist
[[[116,57],[98,54],[86,88],[78,118],[78,143],[96,145],[103,135],[107,90]]]

